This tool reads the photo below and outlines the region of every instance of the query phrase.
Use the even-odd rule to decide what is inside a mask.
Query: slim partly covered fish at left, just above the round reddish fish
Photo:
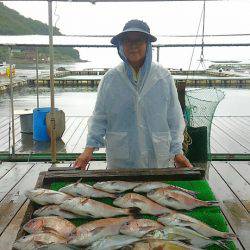
[[[35,217],[43,216],[59,216],[64,219],[77,219],[82,216],[73,214],[69,211],[62,210],[59,205],[46,205],[34,211],[33,215]]]

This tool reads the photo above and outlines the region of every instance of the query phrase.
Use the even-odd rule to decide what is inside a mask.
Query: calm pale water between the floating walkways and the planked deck
[[[250,116],[250,90],[222,89],[225,98],[217,107],[216,116]],[[50,106],[49,88],[39,89],[40,107]],[[90,116],[96,101],[96,89],[56,88],[55,104],[67,116]],[[0,95],[0,117],[10,114],[10,101],[7,94]],[[14,93],[15,110],[36,108],[35,88],[24,88]]]

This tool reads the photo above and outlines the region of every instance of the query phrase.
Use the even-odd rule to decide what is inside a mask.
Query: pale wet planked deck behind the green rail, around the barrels
[[[86,144],[87,116],[66,117],[66,129],[57,141],[57,151],[80,153]],[[9,150],[9,119],[0,118],[0,152]],[[11,134],[11,133],[10,133]],[[48,153],[50,143],[36,142],[21,133],[20,118],[15,118],[16,153]],[[104,150],[102,150],[103,152]],[[249,154],[250,117],[214,117],[211,128],[211,153]]]

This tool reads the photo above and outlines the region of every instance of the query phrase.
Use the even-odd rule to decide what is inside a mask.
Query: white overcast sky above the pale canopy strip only
[[[20,14],[47,23],[46,1],[3,1]],[[57,27],[64,34],[116,34],[129,19],[145,20],[151,32],[196,34],[203,1],[75,3],[53,2]],[[206,2],[205,33],[250,33],[250,1]],[[54,23],[57,16],[54,15]]]

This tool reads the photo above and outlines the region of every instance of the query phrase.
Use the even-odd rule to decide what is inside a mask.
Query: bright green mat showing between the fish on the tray
[[[71,182],[54,182],[51,184],[50,188],[52,190],[59,190],[61,187],[64,187]],[[93,185],[95,182],[87,182],[90,185]],[[195,181],[166,181],[168,184],[172,184],[175,186],[179,186],[182,188],[190,189],[193,191],[198,192],[197,198],[204,200],[204,201],[215,201],[215,196],[209,187],[209,184],[206,180],[195,180]],[[112,205],[112,199],[110,198],[102,198],[102,199],[96,199],[101,202],[104,202],[106,204]],[[228,232],[228,227],[225,221],[224,216],[221,213],[221,210],[219,207],[203,207],[203,208],[196,208],[192,211],[185,212],[185,214],[192,216],[202,222],[205,222],[209,226],[220,230],[224,232]],[[142,215],[142,218],[149,218],[156,220],[156,216],[152,215]],[[76,226],[82,225],[88,221],[91,221],[93,219],[74,219],[71,220]],[[234,243],[232,241],[227,242],[228,249],[236,249]],[[207,247],[206,249],[213,250],[213,249],[223,249],[217,245],[212,245]]]

